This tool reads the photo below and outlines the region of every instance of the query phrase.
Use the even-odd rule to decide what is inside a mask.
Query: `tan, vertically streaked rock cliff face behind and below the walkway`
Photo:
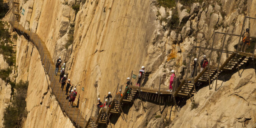
[[[123,85],[132,70],[136,74],[141,66],[149,74],[145,87],[157,88],[162,76],[161,87],[167,89],[170,70],[176,70],[180,77],[184,75],[193,46],[209,47],[214,31],[240,34],[244,16],[255,16],[255,4],[254,0],[205,0],[191,5],[178,2],[175,8],[164,8],[157,0],[20,0],[20,8],[25,9],[20,24],[36,32],[46,43],[52,61],[61,56],[67,62],[68,79],[77,85],[79,108],[85,116],[98,97],[104,99],[117,84]],[[77,14],[75,6],[79,6]],[[169,21],[176,12],[179,28],[169,29]],[[73,44],[69,46],[70,40]],[[234,50],[237,42],[228,49]],[[37,49],[23,36],[18,37],[16,49],[17,81],[29,81],[29,113],[24,128],[73,127],[48,90],[49,81]],[[159,106],[150,102],[144,102],[148,109],[145,112],[141,101],[136,100],[138,111],[134,106],[126,108],[127,122],[116,117],[112,125],[118,128],[251,126],[256,122],[255,75],[251,69],[246,72],[250,79],[247,75],[238,78],[235,73],[222,86],[218,81],[221,87],[216,92],[208,87],[199,90],[194,96],[199,105],[193,110],[188,100],[179,113],[173,106],[161,106],[164,111],[160,113]],[[241,85],[236,84],[240,81]]]

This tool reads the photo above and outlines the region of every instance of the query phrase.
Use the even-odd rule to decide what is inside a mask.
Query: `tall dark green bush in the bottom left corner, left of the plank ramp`
[[[22,128],[22,120],[27,116],[26,95],[28,85],[28,82],[20,81],[15,86],[17,92],[12,105],[9,105],[3,112],[4,128]]]

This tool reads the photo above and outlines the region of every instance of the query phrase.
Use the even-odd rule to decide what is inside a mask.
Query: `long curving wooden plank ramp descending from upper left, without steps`
[[[11,15],[10,13],[9,15]],[[11,17],[11,16],[10,16]],[[10,24],[12,27],[18,32],[23,33],[23,35],[31,41],[34,46],[38,49],[38,52],[41,56],[42,64],[45,68],[45,71],[48,74],[48,79],[50,81],[50,87],[52,89],[52,93],[55,95],[61,110],[67,114],[70,118],[71,122],[73,122],[74,126],[77,128],[84,128],[86,121],[84,117],[81,115],[79,108],[69,108],[68,100],[66,100],[67,95],[65,95],[64,91],[61,91],[61,84],[59,83],[59,75],[55,76],[55,64],[52,61],[52,57],[41,38],[34,32],[24,29],[22,25],[20,25],[14,17],[11,17]],[[65,89],[64,89],[65,90]]]

